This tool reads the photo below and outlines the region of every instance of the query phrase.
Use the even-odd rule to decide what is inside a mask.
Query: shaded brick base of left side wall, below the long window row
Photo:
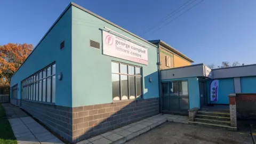
[[[44,123],[55,133],[72,141],[72,108],[22,100],[22,109]]]

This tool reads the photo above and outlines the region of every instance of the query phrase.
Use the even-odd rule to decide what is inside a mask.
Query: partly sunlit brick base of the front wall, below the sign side
[[[73,142],[159,113],[159,99],[105,103],[72,109]]]

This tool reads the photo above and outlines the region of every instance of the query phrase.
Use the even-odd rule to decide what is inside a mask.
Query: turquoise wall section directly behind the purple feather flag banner
[[[210,85],[208,88],[210,100]],[[219,99],[217,102],[211,101],[211,103],[229,104],[228,94],[230,93],[235,93],[234,78],[219,79]]]

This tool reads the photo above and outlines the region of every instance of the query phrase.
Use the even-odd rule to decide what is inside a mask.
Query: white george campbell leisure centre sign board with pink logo
[[[148,65],[148,50],[121,37],[102,31],[103,54]]]

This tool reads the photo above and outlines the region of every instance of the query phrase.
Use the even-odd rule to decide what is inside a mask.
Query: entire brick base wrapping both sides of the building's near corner
[[[22,100],[22,109],[69,142],[77,142],[159,114],[159,99],[83,107],[62,107]]]

